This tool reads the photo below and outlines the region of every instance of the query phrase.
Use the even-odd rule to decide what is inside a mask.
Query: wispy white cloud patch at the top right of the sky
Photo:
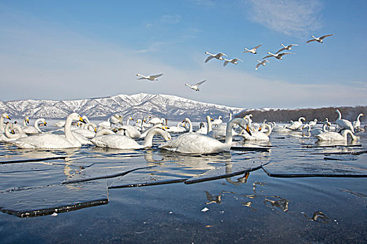
[[[250,18],[269,29],[293,36],[303,36],[322,26],[317,0],[249,0]]]

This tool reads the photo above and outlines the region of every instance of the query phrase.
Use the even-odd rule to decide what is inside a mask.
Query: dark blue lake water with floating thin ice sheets
[[[367,134],[357,136],[235,137],[239,149],[216,155],[159,150],[159,137],[136,151],[1,143],[0,243],[366,243]],[[39,158],[53,159],[19,162]]]

